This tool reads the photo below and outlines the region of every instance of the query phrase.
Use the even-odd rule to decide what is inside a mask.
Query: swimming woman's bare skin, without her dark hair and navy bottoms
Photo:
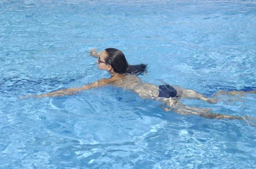
[[[189,89],[183,89],[178,86],[173,86],[177,90],[177,96],[178,98],[159,98],[159,88],[157,85],[152,85],[149,83],[144,83],[141,81],[141,79],[136,76],[136,75],[124,75],[124,74],[119,74],[115,73],[113,71],[113,68],[111,65],[105,64],[105,58],[108,57],[107,53],[103,51],[101,54],[99,52],[96,52],[96,49],[92,49],[90,52],[91,56],[98,57],[99,60],[97,61],[98,63],[98,68],[102,70],[107,70],[111,78],[109,79],[100,79],[97,82],[92,82],[87,85],[84,85],[80,88],[69,88],[69,89],[62,89],[58,90],[55,92],[50,92],[46,94],[41,94],[41,95],[29,95],[35,98],[41,98],[41,97],[55,97],[55,96],[65,96],[65,95],[73,95],[77,94],[79,91],[82,90],[90,90],[92,88],[97,88],[97,87],[104,87],[107,85],[113,85],[116,87],[122,87],[124,90],[130,90],[134,93],[137,93],[141,98],[143,99],[153,99],[157,101],[161,101],[164,103],[166,106],[162,106],[163,110],[165,111],[173,111],[176,113],[179,113],[181,115],[199,115],[204,118],[215,118],[215,119],[223,119],[223,118],[228,118],[228,119],[239,119],[239,120],[244,120],[247,121],[246,118],[249,117],[237,117],[237,116],[232,116],[232,115],[223,115],[223,114],[218,114],[218,113],[211,113],[209,112],[210,109],[202,109],[198,107],[189,107],[186,106],[182,103],[180,103],[179,99],[184,98],[184,99],[200,99],[203,101],[207,101],[210,104],[215,104],[216,102],[220,101],[220,99],[217,98],[209,98],[207,96],[201,95],[200,93],[195,92],[194,90],[189,90]],[[241,91],[233,91],[233,92],[225,92],[225,91],[220,91],[215,94],[215,97],[222,95],[222,94],[228,94],[228,95],[236,95],[238,93],[241,94],[246,94],[247,92],[241,92]],[[251,91],[250,93],[256,93],[256,90]],[[24,96],[28,97],[28,96]],[[20,97],[20,98],[24,98]]]

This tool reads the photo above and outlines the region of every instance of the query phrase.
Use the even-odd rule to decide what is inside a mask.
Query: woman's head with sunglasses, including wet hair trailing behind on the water
[[[97,61],[98,68],[108,70],[111,73],[143,74],[146,72],[146,65],[129,65],[122,51],[115,48],[105,49]]]

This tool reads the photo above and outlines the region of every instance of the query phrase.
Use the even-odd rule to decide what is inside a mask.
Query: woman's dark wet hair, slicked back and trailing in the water
[[[112,66],[114,72],[136,75],[147,73],[147,65],[129,65],[122,51],[115,48],[107,48],[105,51],[108,54],[108,57],[105,58],[105,62]]]

